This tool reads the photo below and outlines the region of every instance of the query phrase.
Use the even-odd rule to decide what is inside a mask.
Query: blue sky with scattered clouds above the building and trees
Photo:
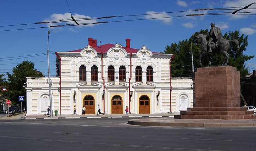
[[[186,14],[205,14],[222,11],[192,11],[203,8],[244,7],[255,0],[68,0],[70,11],[75,19],[96,18],[105,16],[141,16],[115,17],[105,19],[81,20],[78,23],[110,22],[83,26],[66,26],[55,28],[39,28],[52,25],[74,24],[74,22],[58,24],[29,24],[50,22],[60,19],[71,19],[66,0],[2,0],[0,5],[0,74],[12,73],[12,68],[24,60],[34,62],[35,68],[44,75],[47,73],[47,31],[51,31],[49,39],[51,75],[56,75],[54,52],[66,52],[82,49],[88,45],[88,38],[97,39],[101,44],[121,44],[126,46],[126,38],[131,39],[131,48],[140,49],[143,45],[153,52],[163,52],[167,45],[188,39],[200,29],[210,29],[215,23],[222,34],[239,30],[248,35],[249,45],[245,55],[254,55],[256,48],[256,14],[251,15],[208,15],[184,16]],[[252,5],[256,7],[256,4]],[[177,12],[191,11],[191,12]],[[256,10],[242,10],[256,13]],[[163,13],[177,12],[177,13]],[[158,13],[158,14],[150,14]],[[167,18],[162,18],[167,17]],[[169,17],[169,18],[168,18]],[[147,19],[159,18],[159,19]],[[127,22],[120,20],[147,19]],[[21,26],[5,26],[29,24]],[[14,30],[13,29],[27,29]],[[34,56],[39,54],[37,56]],[[18,56],[27,56],[18,57]],[[252,72],[256,68],[256,57],[245,64]],[[5,76],[7,77],[7,76]]]

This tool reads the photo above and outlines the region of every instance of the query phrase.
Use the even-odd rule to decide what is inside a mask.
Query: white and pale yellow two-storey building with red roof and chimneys
[[[170,76],[173,54],[151,52],[143,46],[120,44],[88,46],[56,52],[57,77],[51,77],[53,110],[72,114],[76,105],[81,114],[97,114],[98,104],[105,114],[174,113],[193,106],[191,78]],[[171,89],[170,89],[171,88]],[[27,77],[27,114],[45,114],[50,106],[48,78]]]

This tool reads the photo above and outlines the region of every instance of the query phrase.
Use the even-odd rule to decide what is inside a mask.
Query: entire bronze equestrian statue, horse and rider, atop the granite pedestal
[[[196,35],[196,44],[202,46],[202,53],[199,56],[199,64],[202,67],[202,57],[207,54],[209,58],[209,66],[211,66],[211,53],[221,52],[225,58],[222,62],[222,65],[228,64],[229,54],[227,53],[228,50],[231,49],[230,42],[234,43],[237,47],[236,49],[239,50],[239,42],[238,40],[226,40],[222,37],[221,29],[215,27],[214,23],[211,23],[211,29],[208,35],[205,34],[198,34]]]

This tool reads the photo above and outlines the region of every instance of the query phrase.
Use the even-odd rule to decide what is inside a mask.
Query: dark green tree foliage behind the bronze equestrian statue
[[[200,30],[195,32],[194,35],[199,33],[207,35],[208,29]],[[223,38],[227,40],[237,39],[240,44],[240,49],[237,50],[236,46],[231,43],[231,50],[228,51],[229,54],[229,64],[230,66],[236,67],[240,72],[240,77],[245,77],[248,75],[248,68],[245,67],[245,61],[254,58],[253,56],[244,55],[246,47],[248,46],[248,36],[240,35],[238,30],[229,31],[223,35]],[[175,54],[174,59],[171,61],[171,74],[173,77],[191,77],[192,76],[192,56],[191,50],[193,51],[193,64],[194,68],[200,67],[199,65],[199,55],[202,52],[201,46],[197,46],[195,43],[195,37],[191,36],[189,40],[182,40],[179,43],[171,43],[170,46],[164,50],[164,53]],[[212,66],[219,66],[222,64],[224,56],[221,52],[211,55]],[[203,66],[208,66],[208,57],[205,55],[202,58]]]

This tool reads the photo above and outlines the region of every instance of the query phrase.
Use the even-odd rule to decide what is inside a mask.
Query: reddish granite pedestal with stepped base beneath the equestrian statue
[[[240,73],[232,66],[201,67],[195,72],[196,102],[174,119],[256,119],[240,107]]]

